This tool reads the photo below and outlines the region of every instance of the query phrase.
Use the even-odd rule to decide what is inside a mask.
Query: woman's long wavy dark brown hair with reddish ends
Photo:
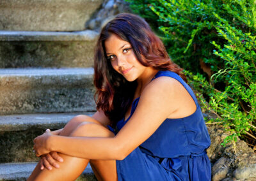
[[[111,34],[128,41],[143,66],[173,71],[185,81],[186,76],[181,73],[182,69],[170,60],[162,41],[143,18],[130,13],[117,15],[102,28],[94,56],[97,110],[102,110],[111,120],[112,126],[115,126],[131,105],[137,83],[125,80],[124,76],[112,68],[111,62],[107,59],[104,42]]]

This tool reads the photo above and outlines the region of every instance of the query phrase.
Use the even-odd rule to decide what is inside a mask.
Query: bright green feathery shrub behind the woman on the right
[[[207,98],[209,104],[201,99],[204,109],[217,113],[215,121],[232,133],[223,145],[241,134],[256,140],[256,1],[129,1],[159,26],[172,60]],[[211,81],[202,75],[207,65]]]

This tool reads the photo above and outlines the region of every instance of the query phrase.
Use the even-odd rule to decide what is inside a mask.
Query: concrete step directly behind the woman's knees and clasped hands
[[[44,133],[61,129],[76,115],[92,116],[94,112],[47,113],[0,116],[0,163],[38,161],[33,153],[33,139]],[[1,168],[0,168],[1,171]]]

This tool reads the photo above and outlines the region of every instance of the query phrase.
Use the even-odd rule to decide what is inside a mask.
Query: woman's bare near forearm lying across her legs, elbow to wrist
[[[124,159],[116,138],[68,137],[53,135],[48,145],[51,151],[86,159]]]

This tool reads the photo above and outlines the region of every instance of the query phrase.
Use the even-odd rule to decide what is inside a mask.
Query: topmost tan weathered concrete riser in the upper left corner
[[[81,31],[103,0],[1,0],[0,29]]]

